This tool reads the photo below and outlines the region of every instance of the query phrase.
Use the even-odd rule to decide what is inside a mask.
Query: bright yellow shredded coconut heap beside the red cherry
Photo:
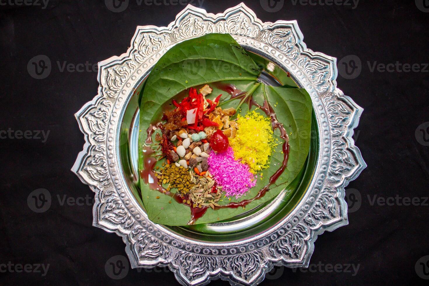
[[[248,111],[243,117],[237,116],[236,136],[230,139],[230,146],[234,149],[235,159],[250,167],[250,172],[269,167],[269,156],[275,152],[274,136],[271,120],[254,110]]]

